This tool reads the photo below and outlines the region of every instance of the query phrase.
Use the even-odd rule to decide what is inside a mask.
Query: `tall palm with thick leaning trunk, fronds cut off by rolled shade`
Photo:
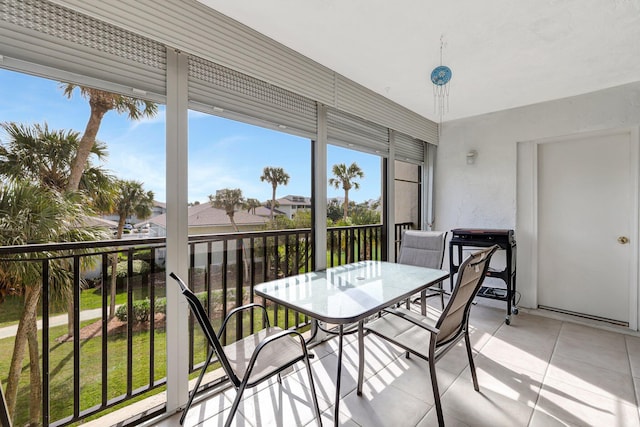
[[[91,108],[89,121],[80,139],[76,157],[71,165],[67,189],[74,191],[79,188],[86,161],[96,142],[98,130],[100,130],[100,124],[102,123],[104,115],[111,110],[115,110],[119,114],[126,113],[131,120],[140,120],[144,117],[155,117],[158,113],[158,105],[154,102],[117,93],[105,92],[86,86],[76,86],[71,83],[61,83],[61,87],[67,98],[71,98],[73,91],[78,87],[80,94],[89,101],[89,107]]]

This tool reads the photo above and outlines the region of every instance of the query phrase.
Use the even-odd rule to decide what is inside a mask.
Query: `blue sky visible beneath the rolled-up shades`
[[[0,122],[43,124],[50,129],[80,133],[89,118],[89,104],[78,92],[67,99],[59,82],[0,69]],[[107,144],[105,169],[122,179],[135,179],[166,201],[165,108],[151,119],[134,122],[113,111],[102,120],[98,140]],[[7,137],[0,131],[0,141]],[[278,186],[277,197],[311,195],[311,142],[297,136],[263,129],[220,117],[189,112],[189,201],[208,201],[223,188],[240,188],[246,198],[271,198],[271,185],[260,181],[265,166],[282,167],[290,175]],[[356,162],[365,176],[360,189],[349,192],[356,202],[381,194],[380,158],[329,146],[328,176],[336,163]],[[344,191],[328,188],[329,197]]]

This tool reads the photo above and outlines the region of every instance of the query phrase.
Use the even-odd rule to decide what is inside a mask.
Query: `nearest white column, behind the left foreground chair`
[[[188,399],[189,308],[169,273],[188,279],[187,56],[167,48],[167,412]]]

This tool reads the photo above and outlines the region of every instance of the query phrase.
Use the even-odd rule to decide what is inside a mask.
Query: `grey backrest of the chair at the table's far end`
[[[398,263],[442,268],[446,238],[446,231],[403,231]]]

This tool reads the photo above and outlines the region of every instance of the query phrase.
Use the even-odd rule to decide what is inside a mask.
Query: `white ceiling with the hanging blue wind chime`
[[[640,0],[199,0],[435,121],[640,81]]]

